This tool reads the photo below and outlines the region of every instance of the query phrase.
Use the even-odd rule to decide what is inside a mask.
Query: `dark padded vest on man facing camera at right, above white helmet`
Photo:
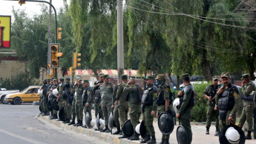
[[[234,95],[232,89],[226,89],[218,100],[218,108],[223,111],[230,111],[234,107]]]

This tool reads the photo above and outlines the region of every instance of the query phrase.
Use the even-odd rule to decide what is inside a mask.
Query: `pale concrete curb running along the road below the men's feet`
[[[88,137],[94,137],[98,140],[104,141],[106,143],[113,143],[113,144],[139,144],[139,140],[127,140],[127,139],[119,139],[118,137],[120,135],[112,135],[110,133],[102,133],[99,131],[94,131],[93,128],[82,128],[82,127],[76,127],[76,126],[68,126],[65,123],[62,123],[62,121],[56,121],[56,120],[50,120],[49,117],[42,117],[39,115],[38,117],[40,120],[45,121],[46,123],[51,123],[59,128],[63,128],[67,131],[73,131],[79,134],[85,134]]]

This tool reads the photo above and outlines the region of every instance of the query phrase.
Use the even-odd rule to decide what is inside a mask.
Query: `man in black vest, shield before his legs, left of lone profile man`
[[[162,112],[169,112],[169,106],[171,105],[172,93],[168,86],[165,85],[165,75],[157,75],[157,84],[159,90],[157,92],[157,117]],[[162,143],[169,143],[170,134],[162,134]]]

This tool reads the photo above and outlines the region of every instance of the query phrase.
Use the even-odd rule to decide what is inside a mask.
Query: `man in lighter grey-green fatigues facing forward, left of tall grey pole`
[[[108,117],[111,114],[114,86],[112,83],[109,83],[109,75],[104,75],[103,80],[104,83],[100,86],[100,95],[102,97],[100,104],[105,119],[105,128],[101,132],[111,132],[108,128]]]

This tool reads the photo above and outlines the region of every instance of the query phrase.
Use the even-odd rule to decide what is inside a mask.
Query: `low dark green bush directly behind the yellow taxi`
[[[1,86],[5,89],[22,89],[27,88],[28,86],[38,86],[39,82],[34,78],[31,78],[28,73],[20,72],[18,75],[12,75],[11,78],[6,78],[5,80],[0,81]]]

